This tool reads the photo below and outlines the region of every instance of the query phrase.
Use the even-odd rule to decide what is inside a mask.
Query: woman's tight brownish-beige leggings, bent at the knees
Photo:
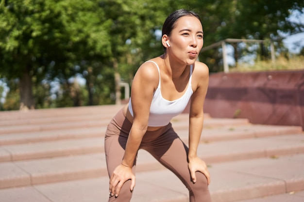
[[[108,125],[104,147],[109,176],[121,163],[131,126],[122,109]],[[196,172],[197,182],[194,184],[191,181],[187,162],[188,147],[180,140],[171,124],[155,131],[147,131],[139,149],[148,151],[183,182],[189,190],[189,202],[211,202],[207,179],[203,173]],[[134,173],[135,165],[136,160],[133,166]],[[131,181],[128,180],[122,186],[118,197],[109,197],[109,202],[130,202],[130,186]]]

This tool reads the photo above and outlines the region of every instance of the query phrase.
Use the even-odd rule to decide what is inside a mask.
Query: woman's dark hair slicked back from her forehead
[[[164,34],[167,34],[168,36],[170,36],[171,31],[175,28],[176,26],[176,21],[183,16],[195,16],[196,18],[198,18],[201,21],[200,16],[195,13],[194,11],[188,11],[186,9],[180,9],[180,10],[176,10],[173,13],[171,13],[167,19],[165,20],[164,24],[163,24],[163,29],[162,29],[162,36]],[[166,49],[166,47],[164,47],[164,49]]]

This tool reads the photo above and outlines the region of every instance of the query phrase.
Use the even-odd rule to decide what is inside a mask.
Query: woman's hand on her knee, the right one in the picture
[[[190,171],[192,181],[194,183],[196,182],[195,172],[200,171],[206,176],[208,185],[210,184],[210,173],[207,169],[206,163],[201,158],[199,157],[190,158],[188,163],[188,168]]]

